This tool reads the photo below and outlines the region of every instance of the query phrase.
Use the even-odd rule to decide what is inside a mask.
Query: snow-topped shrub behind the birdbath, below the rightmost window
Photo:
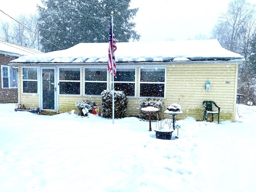
[[[159,109],[159,111],[157,111],[156,113],[152,113],[151,114],[151,120],[152,121],[158,121],[159,120],[159,113],[162,112],[162,110],[164,109],[164,102],[162,101],[162,99],[140,99],[139,101],[139,107],[137,109],[140,110],[140,113],[139,113],[139,118],[140,119],[144,119],[144,120],[148,120],[149,119],[149,114],[142,111],[141,108],[142,107],[156,107]]]

